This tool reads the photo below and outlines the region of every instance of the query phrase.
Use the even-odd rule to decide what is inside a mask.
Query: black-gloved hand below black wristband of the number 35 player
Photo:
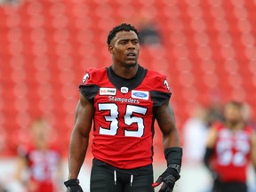
[[[159,176],[156,182],[152,184],[152,187],[156,188],[163,182],[159,192],[172,192],[176,180],[179,179],[179,172],[177,172],[177,170],[172,167],[168,167],[165,172]]]

